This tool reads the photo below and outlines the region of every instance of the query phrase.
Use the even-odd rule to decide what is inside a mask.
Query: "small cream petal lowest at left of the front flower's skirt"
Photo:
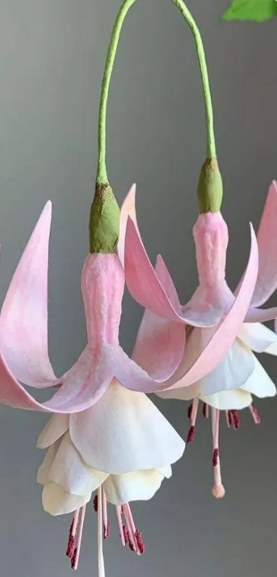
[[[43,487],[43,509],[50,515],[66,515],[83,507],[90,499],[91,493],[82,496],[71,495],[55,483]]]

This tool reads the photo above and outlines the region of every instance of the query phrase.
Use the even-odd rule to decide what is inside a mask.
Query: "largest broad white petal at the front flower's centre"
[[[152,401],[118,381],[91,408],[70,415],[69,430],[87,465],[115,474],[175,463],[185,448]]]

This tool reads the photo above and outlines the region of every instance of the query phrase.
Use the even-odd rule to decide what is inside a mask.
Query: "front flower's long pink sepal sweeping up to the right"
[[[132,361],[128,363],[123,355],[121,355],[121,359],[118,357],[117,376],[126,388],[141,392],[157,392],[166,388],[190,386],[208,375],[225,357],[234,339],[236,339],[239,326],[243,323],[247,313],[258,274],[258,245],[253,227],[250,226],[252,242],[247,269],[234,304],[221,324],[217,328],[195,328],[191,332],[186,343],[183,361],[181,361],[175,375],[164,384],[153,381],[135,363],[133,365],[131,364]],[[194,337],[194,334],[197,335],[199,331],[203,334],[200,352],[198,346],[195,346],[199,342],[199,338],[196,338],[197,343],[195,343]]]

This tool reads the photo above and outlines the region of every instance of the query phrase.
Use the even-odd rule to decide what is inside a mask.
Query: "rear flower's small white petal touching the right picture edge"
[[[256,353],[277,356],[277,335],[261,322],[244,323],[239,330],[239,338]]]

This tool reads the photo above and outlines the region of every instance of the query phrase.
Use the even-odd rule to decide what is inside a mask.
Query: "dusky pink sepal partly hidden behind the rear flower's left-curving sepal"
[[[155,273],[170,301],[173,304],[178,303],[173,280],[160,255],[157,257]],[[132,358],[151,377],[165,381],[179,366],[184,355],[185,343],[186,329],[183,324],[162,319],[146,309],[137,333]]]

